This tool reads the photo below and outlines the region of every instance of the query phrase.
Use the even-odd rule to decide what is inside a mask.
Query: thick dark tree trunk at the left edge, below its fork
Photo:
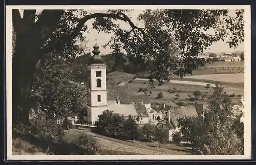
[[[12,58],[12,123],[29,124],[30,89],[36,67],[36,41],[31,32],[17,33]]]

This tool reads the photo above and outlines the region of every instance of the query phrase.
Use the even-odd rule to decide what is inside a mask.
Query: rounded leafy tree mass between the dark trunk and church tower
[[[49,57],[49,56],[47,56]],[[70,81],[71,69],[67,61],[50,58],[39,61],[32,86],[33,109],[46,109],[48,118],[64,118],[81,106],[86,86]]]

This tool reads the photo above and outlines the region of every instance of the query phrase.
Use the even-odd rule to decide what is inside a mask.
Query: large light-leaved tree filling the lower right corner
[[[203,117],[185,117],[178,120],[182,140],[193,146],[192,154],[243,154],[242,113],[233,114],[230,98],[217,85],[209,96]]]

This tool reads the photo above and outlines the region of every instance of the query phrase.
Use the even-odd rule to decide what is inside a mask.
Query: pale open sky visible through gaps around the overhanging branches
[[[87,11],[88,11],[88,13],[106,12],[106,10],[87,10]],[[127,13],[131,17],[131,20],[134,22],[134,24],[140,28],[143,28],[143,22],[137,20],[137,17],[142,12],[143,12],[143,10],[134,10],[132,12]],[[23,12],[21,10],[20,10],[20,14],[23,16]],[[233,15],[234,10],[229,11],[229,14]],[[85,33],[88,43],[86,44],[86,48],[84,48],[84,51],[92,52],[93,45],[95,45],[95,42],[96,42],[95,39],[97,39],[97,44],[100,46],[99,50],[101,51],[101,54],[111,53],[113,51],[112,49],[109,49],[109,48],[104,49],[102,46],[111,39],[111,36],[113,34],[105,34],[103,32],[98,32],[98,31],[92,29],[92,23],[93,23],[93,19],[90,19],[86,22],[86,25],[89,28],[89,33]],[[126,23],[124,21],[119,20],[118,23],[121,26],[121,28],[123,28],[123,29],[127,29],[127,30],[131,29],[131,27],[128,25],[128,23]],[[236,49],[233,49],[233,48],[230,49],[229,45],[225,42],[226,41],[214,42],[214,43],[212,43],[211,46],[209,46],[209,48],[205,52],[221,53],[221,52],[244,51],[244,43],[239,44]],[[124,51],[122,51],[122,52],[124,52]]]

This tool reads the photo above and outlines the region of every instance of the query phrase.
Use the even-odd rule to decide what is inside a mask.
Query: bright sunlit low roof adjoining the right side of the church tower
[[[120,115],[124,115],[124,116],[138,115],[134,107],[134,104],[108,104],[107,107],[114,113],[119,113]]]

